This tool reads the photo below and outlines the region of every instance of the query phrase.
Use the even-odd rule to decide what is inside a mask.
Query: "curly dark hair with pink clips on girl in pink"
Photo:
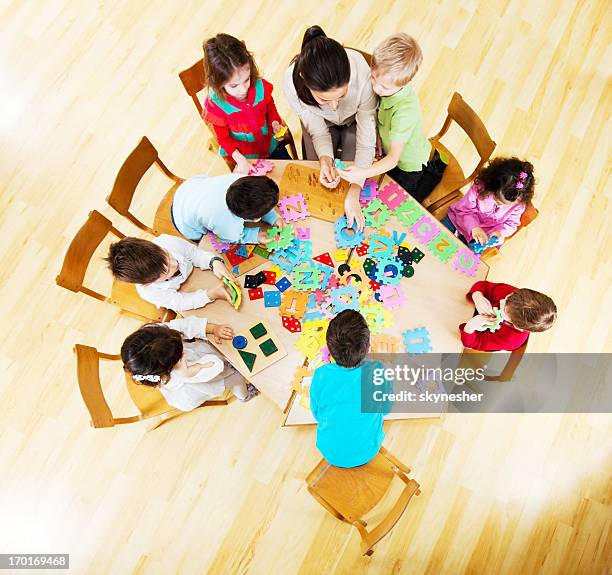
[[[481,198],[493,194],[499,200],[527,204],[534,193],[533,165],[518,158],[495,158],[480,170],[475,183],[480,184]]]

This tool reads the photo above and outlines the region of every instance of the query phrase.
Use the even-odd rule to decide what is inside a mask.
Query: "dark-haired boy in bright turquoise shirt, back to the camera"
[[[361,407],[362,372],[374,366],[363,361],[370,349],[370,330],[359,312],[345,310],[330,322],[326,339],[336,363],[316,369],[310,385],[317,448],[336,467],[365,465],[385,438],[385,413],[364,413]]]

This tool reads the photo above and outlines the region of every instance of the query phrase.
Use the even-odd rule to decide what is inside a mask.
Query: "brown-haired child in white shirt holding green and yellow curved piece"
[[[157,307],[184,311],[216,299],[230,301],[222,283],[208,290],[179,291],[194,267],[212,270],[218,278],[232,276],[222,258],[177,236],[162,234],[152,241],[123,238],[111,245],[106,261],[116,279],[136,284],[140,297]]]

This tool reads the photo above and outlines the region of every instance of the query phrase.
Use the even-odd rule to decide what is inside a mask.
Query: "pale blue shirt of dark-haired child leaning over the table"
[[[227,207],[227,189],[243,174],[223,176],[193,176],[185,180],[174,194],[172,217],[179,232],[190,240],[199,241],[210,230],[226,242],[256,244],[259,227],[244,226],[245,220],[232,214]],[[279,215],[270,210],[261,219],[273,224]]]

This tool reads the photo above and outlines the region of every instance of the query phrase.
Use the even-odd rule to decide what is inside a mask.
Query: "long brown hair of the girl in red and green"
[[[234,72],[247,64],[251,68],[251,86],[259,79],[259,70],[246,44],[229,34],[217,34],[204,42],[204,75],[209,89],[225,100],[223,90]]]

